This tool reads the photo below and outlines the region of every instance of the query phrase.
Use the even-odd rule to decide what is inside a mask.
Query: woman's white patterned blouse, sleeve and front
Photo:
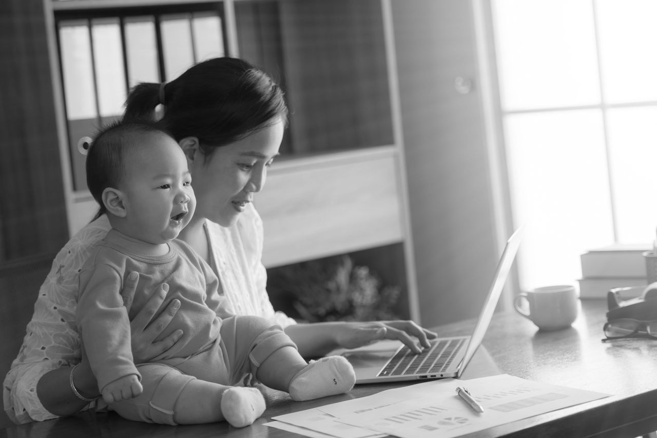
[[[106,217],[90,223],[60,250],[41,285],[34,315],[18,357],[3,384],[5,412],[14,422],[48,420],[37,397],[37,382],[43,374],[80,361],[80,338],[75,324],[78,304],[78,273],[91,249],[110,229]],[[221,280],[223,293],[237,315],[258,315],[286,327],[292,318],[275,312],[267,296],[267,273],[261,263],[263,227],[252,204],[232,227],[205,224],[210,245],[210,265]]]

